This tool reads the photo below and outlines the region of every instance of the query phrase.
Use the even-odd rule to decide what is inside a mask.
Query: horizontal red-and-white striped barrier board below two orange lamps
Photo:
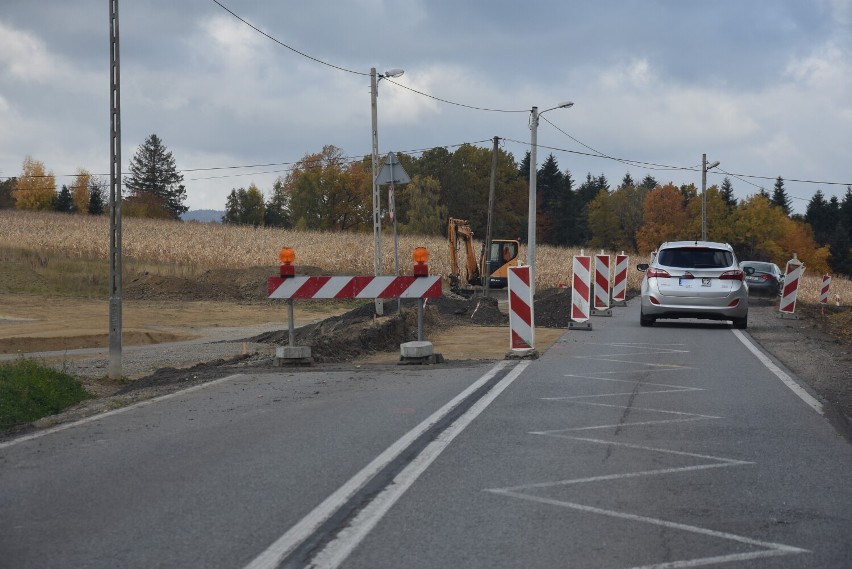
[[[438,298],[440,275],[269,277],[269,298]]]

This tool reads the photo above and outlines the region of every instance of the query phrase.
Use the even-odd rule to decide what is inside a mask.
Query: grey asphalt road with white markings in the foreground
[[[748,340],[631,304],[532,362],[234,376],[0,443],[0,567],[852,567],[852,446]]]

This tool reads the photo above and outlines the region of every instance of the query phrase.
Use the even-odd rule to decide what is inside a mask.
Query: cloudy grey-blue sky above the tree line
[[[109,32],[109,2],[0,0],[0,179],[31,156],[108,180]],[[538,164],[578,183],[700,188],[706,154],[708,186],[781,176],[799,213],[852,184],[852,0],[133,0],[119,42],[122,171],[156,134],[191,210],[325,145],[369,155],[373,67],[405,71],[379,81],[382,156],[498,136],[520,162],[536,106]]]

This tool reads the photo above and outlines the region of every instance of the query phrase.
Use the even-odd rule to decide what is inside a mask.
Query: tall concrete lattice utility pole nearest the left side
[[[109,2],[110,173],[109,173],[109,378],[121,378],[121,81],[118,0]]]

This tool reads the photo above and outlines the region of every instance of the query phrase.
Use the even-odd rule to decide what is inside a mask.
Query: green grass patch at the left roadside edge
[[[75,377],[35,360],[0,363],[0,429],[54,415],[93,397]]]

